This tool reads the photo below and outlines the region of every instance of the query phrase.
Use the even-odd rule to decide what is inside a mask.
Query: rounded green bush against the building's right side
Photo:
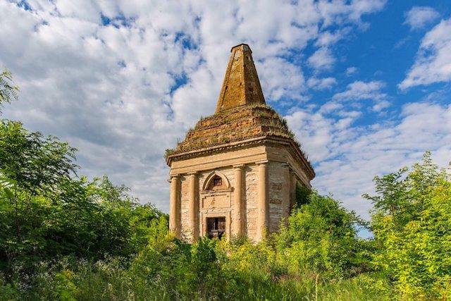
[[[364,264],[362,252],[366,249],[357,238],[358,224],[362,221],[340,202],[310,192],[278,235],[280,257],[297,274],[350,276]]]

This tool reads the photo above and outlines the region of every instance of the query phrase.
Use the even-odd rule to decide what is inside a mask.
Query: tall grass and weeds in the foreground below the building
[[[41,263],[32,275],[0,280],[0,300],[387,300],[366,288],[365,277],[335,280],[314,273],[284,274],[261,246],[204,240],[166,242],[136,257],[103,261],[61,259]],[[232,251],[230,251],[232,250]],[[236,250],[236,249],[235,249]],[[266,257],[266,258],[265,258]],[[259,260],[259,262],[254,261]],[[280,272],[282,271],[282,273]]]

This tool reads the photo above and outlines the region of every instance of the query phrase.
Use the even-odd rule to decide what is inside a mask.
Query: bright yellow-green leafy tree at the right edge
[[[378,195],[365,195],[374,204],[373,265],[407,299],[445,300],[451,296],[450,173],[429,152],[407,171],[376,177]]]

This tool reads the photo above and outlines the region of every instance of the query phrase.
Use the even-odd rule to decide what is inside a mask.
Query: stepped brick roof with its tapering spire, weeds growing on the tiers
[[[290,145],[293,154],[304,162],[310,178],[314,178],[314,170],[287,122],[266,105],[251,49],[247,44],[240,44],[231,52],[216,112],[197,121],[175,149],[166,150],[166,163],[278,140]]]

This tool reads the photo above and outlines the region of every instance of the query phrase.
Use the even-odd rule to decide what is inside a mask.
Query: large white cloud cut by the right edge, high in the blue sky
[[[414,66],[398,87],[451,81],[451,19],[442,20],[421,40]]]

